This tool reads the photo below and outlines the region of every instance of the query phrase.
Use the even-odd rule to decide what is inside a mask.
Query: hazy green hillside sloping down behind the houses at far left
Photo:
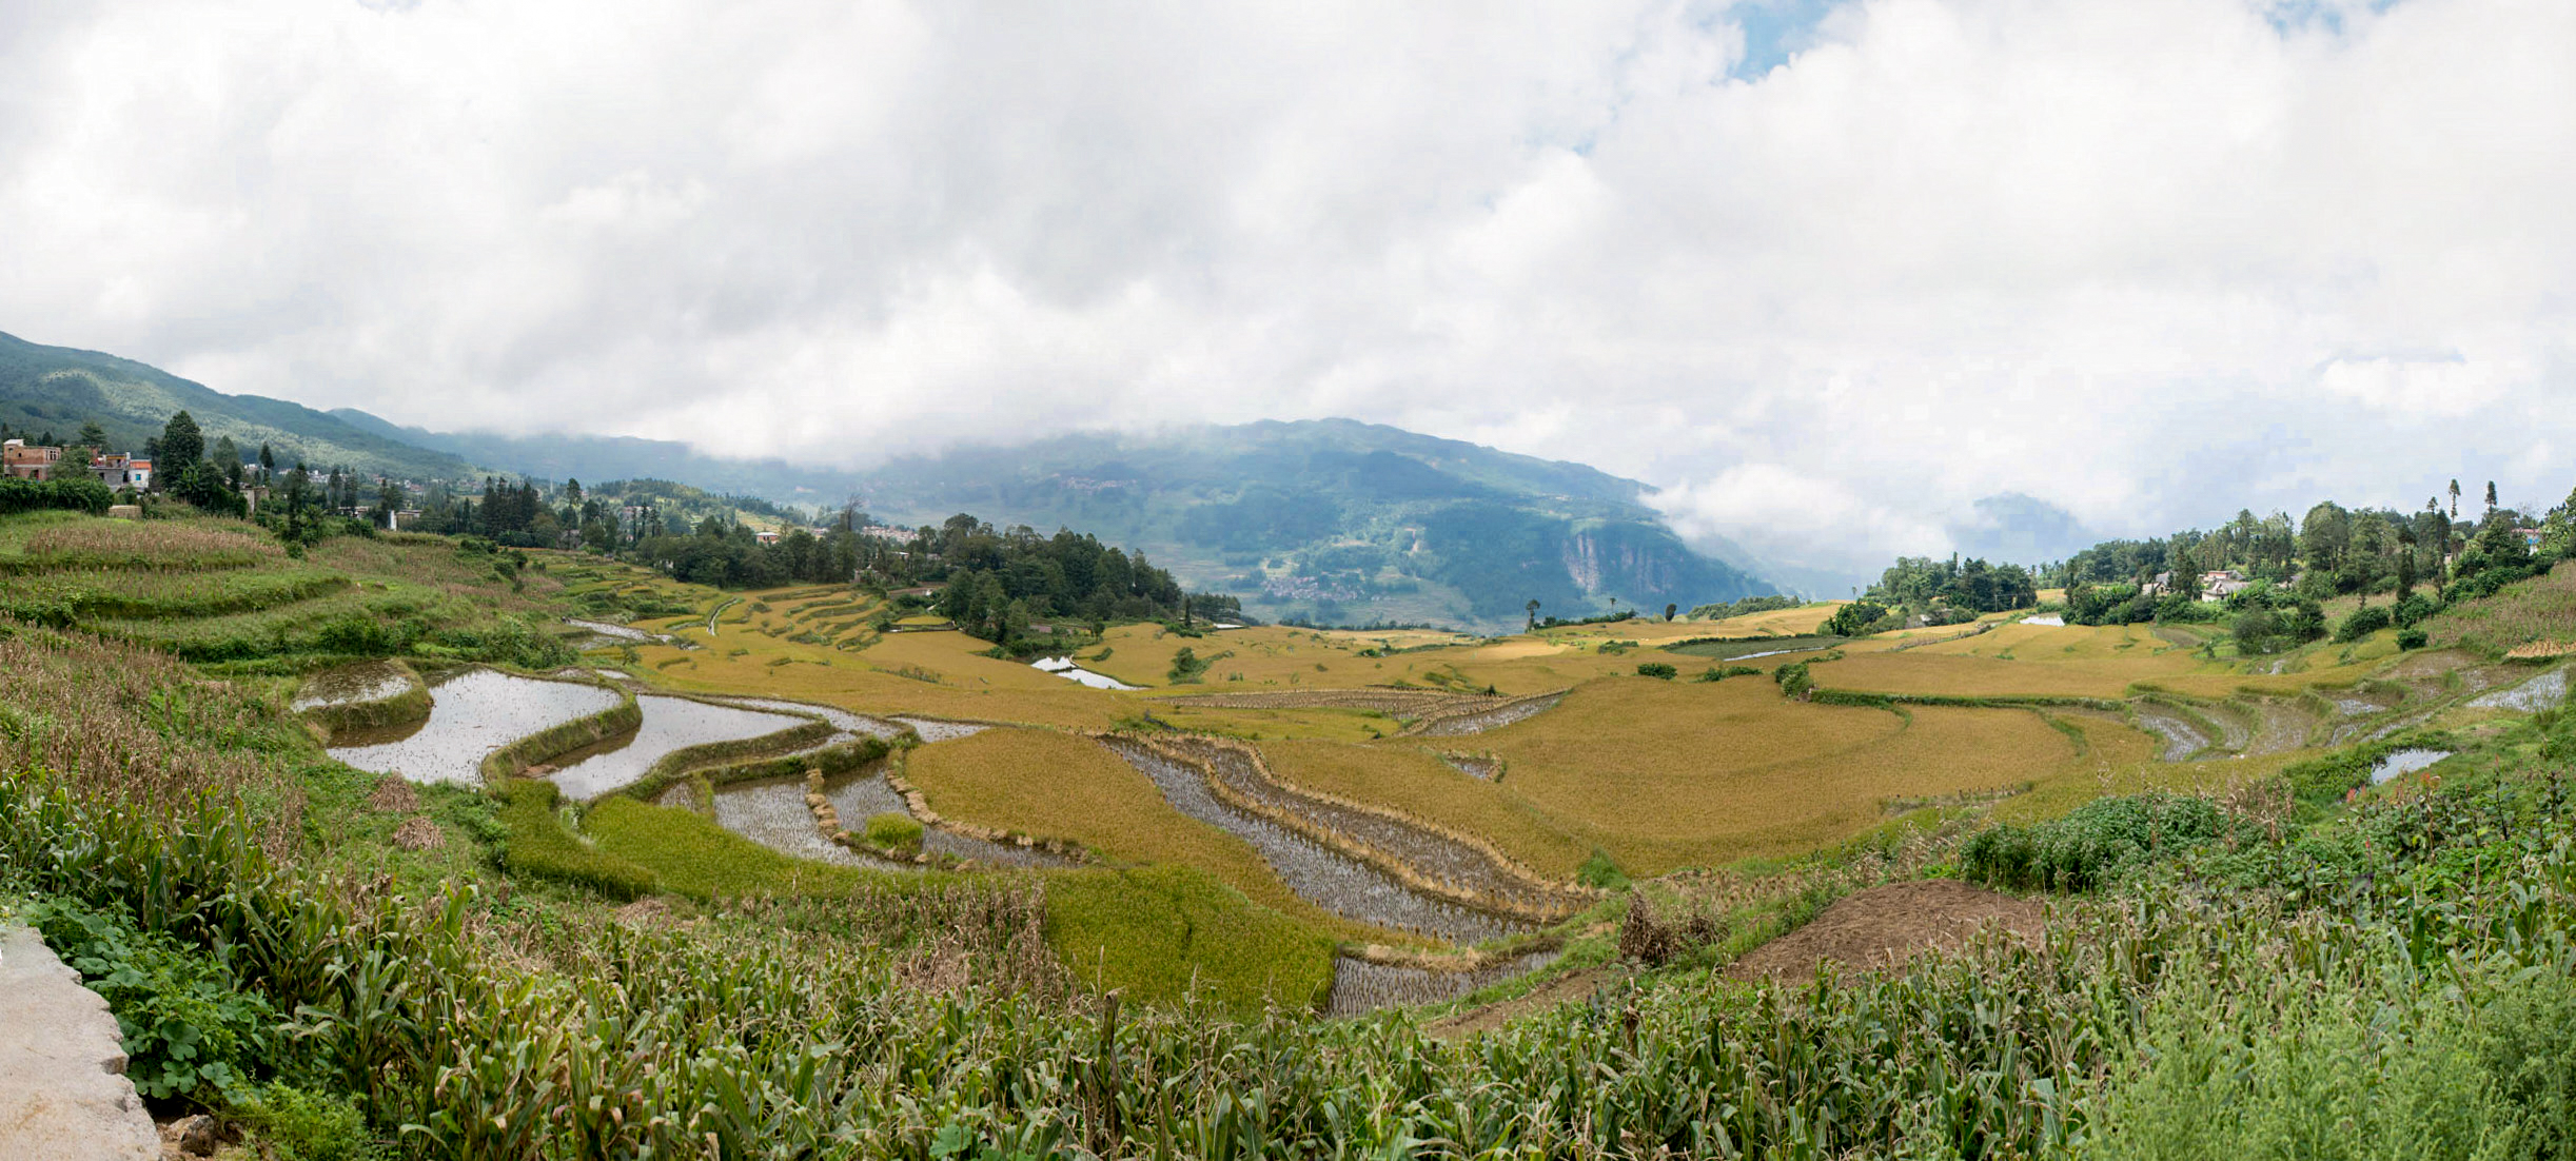
[[[482,471],[459,456],[415,448],[348,420],[286,399],[222,394],[131,358],[46,348],[0,335],[0,422],[10,432],[54,432],[70,440],[95,420],[116,450],[142,450],[170,412],[185,409],[206,443],[229,435],[245,453],[263,443],[278,461],[307,461],[407,479],[469,479]]]

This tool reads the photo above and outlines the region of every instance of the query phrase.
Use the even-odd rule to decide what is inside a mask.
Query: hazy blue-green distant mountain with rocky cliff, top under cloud
[[[1079,432],[863,476],[878,520],[1090,528],[1260,618],[1520,626],[1772,587],[1687,548],[1643,484],[1355,420]]]

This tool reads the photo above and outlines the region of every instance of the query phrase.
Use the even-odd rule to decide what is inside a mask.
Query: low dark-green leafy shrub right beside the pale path
[[[134,1091],[219,1104],[268,1061],[278,1012],[222,958],[72,901],[39,901],[26,922],[116,1012]]]

